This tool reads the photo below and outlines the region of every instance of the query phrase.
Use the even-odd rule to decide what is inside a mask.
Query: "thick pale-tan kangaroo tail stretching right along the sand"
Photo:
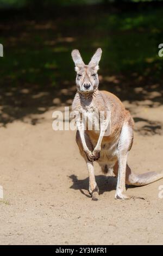
[[[162,172],[147,172],[143,174],[131,173],[130,168],[127,166],[126,184],[134,186],[144,186],[156,180],[163,178]]]

